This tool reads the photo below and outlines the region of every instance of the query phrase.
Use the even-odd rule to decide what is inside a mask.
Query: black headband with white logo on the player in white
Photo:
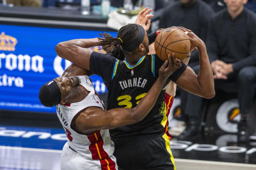
[[[59,90],[58,84],[55,80],[51,80],[45,83],[46,87],[50,91],[51,98],[53,99],[53,105],[57,105],[61,103],[61,90]]]

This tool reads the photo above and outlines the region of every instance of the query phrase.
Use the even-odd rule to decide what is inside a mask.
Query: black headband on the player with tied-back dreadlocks
[[[124,51],[131,52],[135,50],[144,40],[145,29],[141,25],[136,25],[138,27],[138,36],[136,39],[130,41],[129,43],[121,45]]]

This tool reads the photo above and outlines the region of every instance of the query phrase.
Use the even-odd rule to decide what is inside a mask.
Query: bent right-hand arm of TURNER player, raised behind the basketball
[[[193,32],[188,32],[191,45],[197,48],[200,60],[200,70],[198,75],[187,67],[181,77],[175,82],[184,90],[205,98],[215,96],[213,71],[209,62],[205,43]]]

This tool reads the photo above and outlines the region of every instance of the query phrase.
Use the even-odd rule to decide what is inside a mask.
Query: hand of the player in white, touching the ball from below
[[[176,71],[180,67],[181,60],[175,57],[175,53],[172,53],[172,56],[168,54],[168,60],[163,63],[158,71],[159,77],[167,79],[171,74],[173,74],[174,71]]]

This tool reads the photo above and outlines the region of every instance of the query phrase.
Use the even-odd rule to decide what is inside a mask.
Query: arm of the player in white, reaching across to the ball
[[[88,134],[100,129],[114,129],[119,126],[130,125],[141,121],[153,108],[167,78],[179,67],[181,61],[173,56],[165,61],[159,69],[159,77],[149,92],[134,108],[116,108],[104,111],[101,108],[91,107],[82,112],[75,121],[75,127],[82,133]],[[166,68],[168,64],[168,67]]]

